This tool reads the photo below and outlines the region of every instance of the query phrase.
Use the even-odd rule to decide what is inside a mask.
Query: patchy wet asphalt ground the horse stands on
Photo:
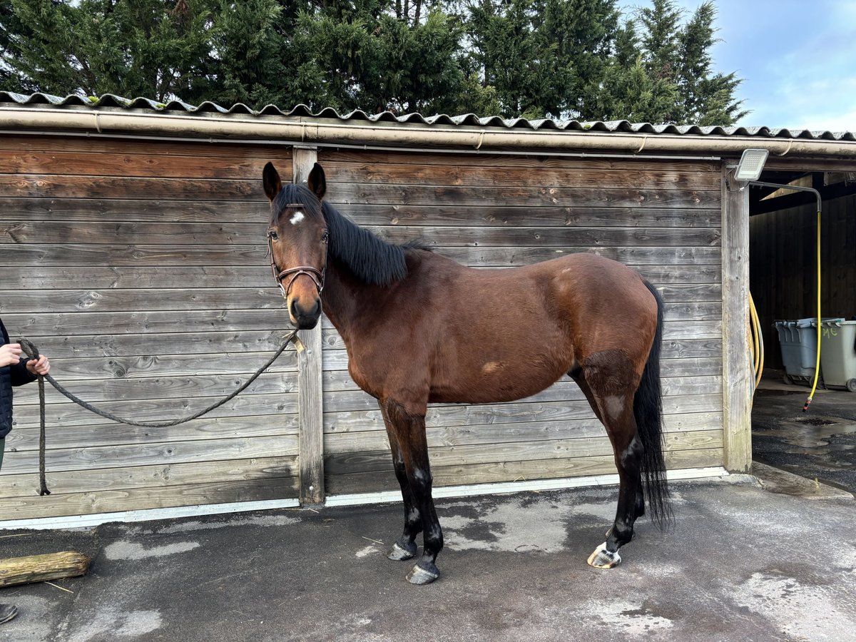
[[[776,421],[805,418],[805,392],[756,396],[756,431],[770,433],[757,443],[800,438],[793,426],[776,435]],[[841,407],[856,395],[841,395],[852,396],[818,393],[808,416],[849,425]],[[789,447],[803,449],[787,453],[794,461],[814,448],[803,441]],[[80,578],[0,589],[20,609],[0,640],[852,642],[853,495],[760,463],[753,473],[672,484],[674,526],[639,520],[608,571],[586,558],[615,487],[439,500],[446,547],[429,586],[407,584],[411,562],[385,557],[397,503],[4,531],[0,557],[78,550],[92,563]]]

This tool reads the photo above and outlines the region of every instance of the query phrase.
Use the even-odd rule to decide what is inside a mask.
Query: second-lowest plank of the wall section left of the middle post
[[[192,464],[159,464],[122,468],[95,468],[49,474],[51,496],[71,493],[122,490],[131,488],[169,488],[194,484],[199,479],[208,483],[259,481],[294,477],[300,473],[295,455],[259,457],[228,461],[201,461]],[[32,497],[39,491],[38,473],[0,476],[0,499]]]

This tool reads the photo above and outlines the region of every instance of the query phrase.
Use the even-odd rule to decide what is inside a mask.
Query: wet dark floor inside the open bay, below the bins
[[[765,372],[752,407],[752,458],[856,493],[856,393],[784,383]]]

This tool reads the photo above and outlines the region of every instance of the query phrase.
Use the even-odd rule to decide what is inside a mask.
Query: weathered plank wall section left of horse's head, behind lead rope
[[[261,171],[282,146],[0,138],[0,315],[68,389],[141,421],[228,395],[281,342]],[[296,496],[296,356],[210,415],[112,423],[47,389],[15,389],[0,520]]]

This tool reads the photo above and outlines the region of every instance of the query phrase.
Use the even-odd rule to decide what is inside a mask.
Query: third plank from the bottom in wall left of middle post
[[[54,449],[46,453],[45,467],[49,473],[57,473],[94,468],[127,468],[290,455],[297,455],[296,436],[276,435],[275,437],[238,437],[197,442],[117,443],[104,448]],[[3,457],[4,474],[33,473],[38,470],[39,454],[37,452],[10,451]]]

